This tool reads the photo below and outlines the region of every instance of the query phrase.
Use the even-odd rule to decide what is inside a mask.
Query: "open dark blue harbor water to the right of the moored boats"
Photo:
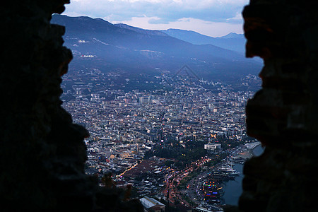
[[[253,149],[253,153],[256,156],[261,155],[261,153],[263,152],[264,152],[264,148],[262,148],[260,145]],[[225,201],[225,204],[237,206],[238,199],[240,198],[240,195],[242,194],[242,180],[244,177],[243,165],[239,163],[235,163],[233,167],[235,170],[237,170],[237,172],[240,172],[240,175],[235,177],[234,180],[225,182],[223,199]]]

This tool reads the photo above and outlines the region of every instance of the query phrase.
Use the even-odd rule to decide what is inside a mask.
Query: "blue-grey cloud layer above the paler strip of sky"
[[[132,17],[158,17],[177,21],[180,18],[231,23],[248,0],[73,0],[66,6],[69,13],[83,13],[93,18],[110,17],[109,21]],[[153,20],[160,23],[159,20]]]

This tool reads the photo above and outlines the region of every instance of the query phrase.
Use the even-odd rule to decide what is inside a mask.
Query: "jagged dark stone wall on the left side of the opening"
[[[84,173],[89,136],[61,107],[72,59],[64,27],[49,23],[68,0],[1,3],[1,211],[142,211]]]

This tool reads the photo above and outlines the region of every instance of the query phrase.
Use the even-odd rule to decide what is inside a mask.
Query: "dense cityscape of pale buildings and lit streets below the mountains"
[[[254,148],[254,140],[245,134],[245,104],[254,95],[249,88],[259,83],[257,76],[238,80],[244,90],[199,80],[188,72],[155,76],[154,89],[122,90],[114,86],[116,74],[92,70],[86,75],[95,83],[64,78],[61,98],[73,122],[90,132],[88,175],[104,185],[107,176],[116,187],[131,184],[131,197],[148,208],[199,211],[206,206],[202,210],[221,211],[221,195],[207,196],[203,181],[212,170],[220,170],[225,159],[233,163],[232,156]],[[128,85],[131,80],[125,81]],[[225,178],[230,175],[219,175],[214,186],[221,188]]]

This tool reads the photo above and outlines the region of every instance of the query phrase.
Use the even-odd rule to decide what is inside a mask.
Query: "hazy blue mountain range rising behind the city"
[[[175,74],[187,64],[201,78],[223,80],[261,69],[261,63],[240,53],[242,35],[235,33],[208,37],[187,30],[144,30],[83,16],[54,15],[51,22],[66,27],[64,44],[74,57],[70,69],[154,76]]]

